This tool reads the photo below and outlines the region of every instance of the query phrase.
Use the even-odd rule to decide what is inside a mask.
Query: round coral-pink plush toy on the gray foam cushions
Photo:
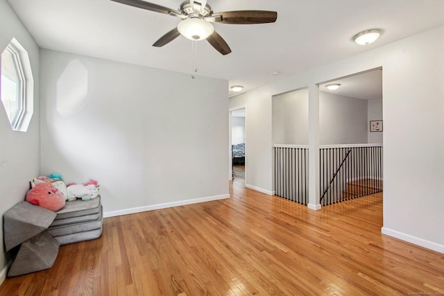
[[[65,198],[62,193],[48,182],[35,184],[26,193],[26,201],[50,211],[58,211],[65,207]]]

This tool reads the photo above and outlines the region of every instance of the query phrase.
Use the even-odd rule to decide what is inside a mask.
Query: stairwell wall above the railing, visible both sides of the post
[[[321,145],[367,143],[367,101],[319,92]],[[273,96],[273,143],[308,144],[308,90]]]

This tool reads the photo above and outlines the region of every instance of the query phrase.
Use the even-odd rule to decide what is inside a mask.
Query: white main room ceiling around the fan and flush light
[[[180,19],[110,0],[8,0],[44,49],[190,73],[191,41],[152,44]],[[177,9],[181,0],[151,0]],[[209,0],[214,12],[274,10],[273,24],[214,24],[232,49],[221,55],[198,42],[198,75],[244,85],[245,91],[444,24],[443,0]],[[384,34],[359,46],[352,36]],[[273,76],[272,72],[279,75]],[[343,82],[345,85],[345,82]]]

